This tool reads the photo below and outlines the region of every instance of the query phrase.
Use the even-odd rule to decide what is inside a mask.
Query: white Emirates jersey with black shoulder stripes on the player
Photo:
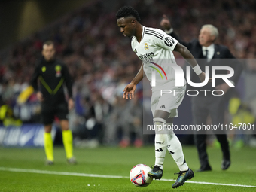
[[[152,90],[171,90],[175,87],[175,71],[171,66],[177,65],[172,53],[178,41],[160,29],[143,27],[142,40],[132,38],[132,49],[143,62],[143,70],[151,81]],[[152,82],[154,72],[155,82]],[[184,78],[184,77],[183,77]],[[185,82],[185,80],[184,80]]]

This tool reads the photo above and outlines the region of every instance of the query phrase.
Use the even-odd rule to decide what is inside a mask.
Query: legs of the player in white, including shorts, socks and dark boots
[[[182,90],[185,90],[186,87],[181,87],[178,92],[181,93]],[[172,119],[169,120],[169,117],[178,117],[177,108],[181,104],[184,98],[183,94],[179,94],[178,96],[170,96],[169,94],[165,94],[158,98],[157,105],[155,106],[154,111],[154,127],[155,127],[155,157],[156,162],[154,169],[149,172],[154,178],[161,178],[163,175],[163,161],[166,155],[167,145],[169,145],[169,150],[174,152],[172,157],[177,163],[178,167],[184,171],[188,172],[187,163],[184,161],[184,154],[182,151],[181,143],[178,138],[173,134],[172,130],[163,129],[161,131],[157,130],[156,126],[167,127],[172,123]],[[154,93],[152,94],[152,99],[154,99]],[[152,108],[152,99],[151,99],[151,108]],[[154,103],[154,100],[153,100]],[[167,122],[168,120],[168,122]],[[171,146],[172,145],[172,146]],[[192,174],[192,175],[191,175]],[[194,176],[194,173],[191,171],[188,177]],[[182,182],[186,181],[188,177],[184,177],[181,179]],[[177,180],[178,181],[178,180]]]

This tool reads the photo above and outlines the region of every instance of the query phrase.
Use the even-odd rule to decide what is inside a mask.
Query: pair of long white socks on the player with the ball
[[[180,171],[187,171],[188,166],[184,160],[184,154],[181,147],[181,142],[178,140],[175,133],[172,130],[157,130],[157,126],[171,126],[172,124],[166,124],[166,120],[163,118],[154,118],[155,127],[155,165],[160,166],[163,169],[164,158],[166,157],[166,149],[172,155]],[[168,133],[168,134],[166,134]]]

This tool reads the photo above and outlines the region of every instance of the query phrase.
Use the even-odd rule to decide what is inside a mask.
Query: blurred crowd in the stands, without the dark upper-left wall
[[[17,96],[29,85],[35,63],[41,57],[42,43],[53,40],[56,56],[66,62],[74,80],[75,110],[70,123],[75,141],[83,139],[106,145],[130,143],[141,146],[142,84],[136,100],[122,99],[123,88],[141,66],[117,27],[115,13],[128,1],[97,1],[86,5],[0,54],[0,106],[8,105],[14,117],[25,123],[38,123],[40,104],[35,94],[22,105]],[[211,23],[219,30],[218,42],[229,47],[236,58],[256,59],[256,2],[217,1],[129,1],[139,11],[142,24],[160,28],[166,14],[175,32],[190,41],[200,26]],[[218,43],[217,42],[217,43]],[[177,58],[180,55],[175,54]],[[245,72],[256,75],[255,62],[245,64]],[[118,129],[120,128],[120,129]]]

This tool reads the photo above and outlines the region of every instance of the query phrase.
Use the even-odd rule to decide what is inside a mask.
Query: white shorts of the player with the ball
[[[169,89],[166,89],[169,90]],[[178,117],[178,106],[181,105],[186,93],[186,85],[184,87],[174,87],[171,93],[165,93],[161,96],[161,91],[152,92],[151,111],[154,117],[154,111],[161,110],[169,112],[170,117]]]

